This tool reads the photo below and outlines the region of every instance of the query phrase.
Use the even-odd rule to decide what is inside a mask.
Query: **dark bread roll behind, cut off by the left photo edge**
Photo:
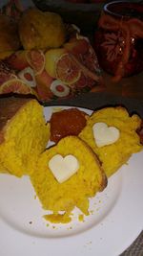
[[[16,51],[21,46],[17,23],[5,14],[0,14],[0,51]]]

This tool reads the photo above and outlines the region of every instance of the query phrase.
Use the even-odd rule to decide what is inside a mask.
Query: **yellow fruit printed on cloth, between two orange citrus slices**
[[[51,49],[45,54],[45,70],[51,76],[51,78],[56,79],[56,61],[60,58],[66,51],[64,48]]]

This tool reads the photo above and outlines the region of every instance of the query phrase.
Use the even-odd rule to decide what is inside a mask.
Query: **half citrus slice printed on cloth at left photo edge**
[[[0,94],[6,93],[19,93],[19,94],[32,94],[36,96],[36,92],[29,86],[19,79],[12,79],[4,82],[0,86]]]

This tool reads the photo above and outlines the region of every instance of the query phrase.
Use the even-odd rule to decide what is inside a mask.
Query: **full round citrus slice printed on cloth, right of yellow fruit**
[[[65,84],[72,84],[79,80],[81,70],[71,54],[62,55],[56,62],[56,78]]]

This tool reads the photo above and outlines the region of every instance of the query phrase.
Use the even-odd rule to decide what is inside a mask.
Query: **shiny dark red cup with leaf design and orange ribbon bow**
[[[106,4],[94,34],[94,49],[100,67],[116,80],[143,71],[143,5]]]

